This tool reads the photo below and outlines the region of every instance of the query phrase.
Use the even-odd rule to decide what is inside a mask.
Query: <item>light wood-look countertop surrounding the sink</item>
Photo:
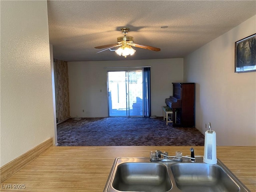
[[[203,146],[192,146],[196,156]],[[161,150],[190,155],[191,146],[53,146],[1,183],[0,190],[40,192],[102,192],[116,157],[149,157]],[[220,159],[252,192],[256,192],[256,147],[218,146]],[[14,190],[14,185],[25,189]],[[12,189],[6,189],[7,186]]]

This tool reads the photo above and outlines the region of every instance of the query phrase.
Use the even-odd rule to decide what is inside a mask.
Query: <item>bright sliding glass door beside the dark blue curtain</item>
[[[142,98],[142,70],[108,72],[109,116],[142,116]]]

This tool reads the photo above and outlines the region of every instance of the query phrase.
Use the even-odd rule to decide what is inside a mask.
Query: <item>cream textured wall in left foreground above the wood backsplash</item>
[[[47,2],[0,1],[1,163],[54,138]]]

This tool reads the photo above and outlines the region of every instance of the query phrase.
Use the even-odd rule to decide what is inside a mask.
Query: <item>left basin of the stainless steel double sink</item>
[[[118,165],[112,186],[119,191],[166,192],[172,183],[164,164],[128,162]]]

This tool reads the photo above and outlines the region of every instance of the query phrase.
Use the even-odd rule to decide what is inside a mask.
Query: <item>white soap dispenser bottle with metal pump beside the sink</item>
[[[207,164],[216,164],[216,132],[212,131],[211,123],[209,123],[209,129],[204,135],[204,162]]]

